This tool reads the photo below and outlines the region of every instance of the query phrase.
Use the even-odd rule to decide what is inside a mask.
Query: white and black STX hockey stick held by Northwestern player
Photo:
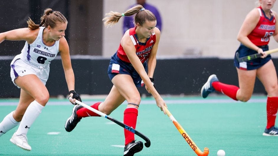
[[[80,102],[80,101],[76,100],[75,103],[77,103],[77,104],[79,104],[79,105],[89,109],[92,112],[95,112],[95,113],[99,114],[102,117],[105,117],[105,118],[109,119],[112,122],[115,122],[117,125],[120,125],[121,127],[125,128],[126,130],[129,130],[130,132],[133,132],[134,134],[138,135],[139,137],[141,137],[142,139],[144,139],[146,141],[145,142],[145,146],[146,147],[150,147],[151,146],[150,139],[148,137],[146,137],[145,135],[143,135],[142,133],[140,133],[137,130],[135,130],[134,128],[129,127],[129,126],[125,125],[124,123],[122,123],[122,122],[120,122],[120,121],[118,121],[118,120],[116,120],[116,119],[114,119],[112,117],[109,117],[108,115],[104,114],[103,112],[100,112],[97,109],[94,109],[94,108],[88,106],[87,104],[84,104],[83,102]]]

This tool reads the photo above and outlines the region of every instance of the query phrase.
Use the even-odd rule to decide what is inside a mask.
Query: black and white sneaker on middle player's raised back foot
[[[75,105],[72,109],[72,114],[68,118],[65,124],[65,129],[67,132],[71,132],[77,125],[77,123],[82,119],[82,117],[77,117],[77,110],[83,108],[83,106]]]

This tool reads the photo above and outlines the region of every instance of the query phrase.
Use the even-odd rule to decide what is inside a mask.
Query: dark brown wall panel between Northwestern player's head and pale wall
[[[102,5],[99,0],[70,1],[71,55],[102,55]]]

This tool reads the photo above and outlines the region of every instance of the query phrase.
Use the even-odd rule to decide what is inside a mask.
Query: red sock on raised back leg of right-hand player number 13
[[[239,89],[237,86],[224,84],[221,82],[212,82],[212,87],[218,92],[221,92],[234,100],[238,100],[236,99],[236,92]]]

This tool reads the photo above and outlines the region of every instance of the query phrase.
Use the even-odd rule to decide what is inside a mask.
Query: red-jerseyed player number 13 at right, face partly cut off
[[[236,51],[234,64],[238,72],[239,87],[218,81],[216,75],[211,75],[201,90],[206,98],[208,94],[217,90],[234,100],[248,101],[253,93],[256,77],[262,82],[267,92],[266,116],[267,124],[264,136],[278,136],[275,119],[278,109],[278,81],[271,56],[264,51],[269,50],[269,37],[273,36],[278,42],[277,13],[272,10],[275,0],[259,0],[260,6],[251,10],[238,33],[241,42]],[[239,62],[239,57],[261,53],[262,56],[246,62]]]

